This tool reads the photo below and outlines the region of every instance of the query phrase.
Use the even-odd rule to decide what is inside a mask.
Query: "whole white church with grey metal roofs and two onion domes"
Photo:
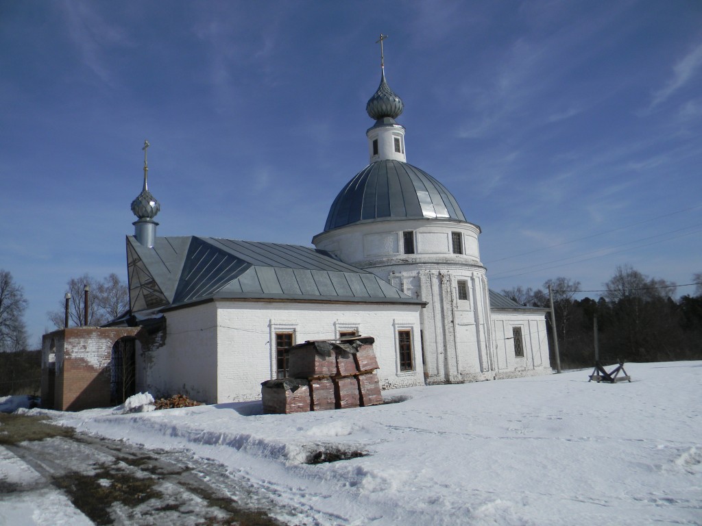
[[[145,155],[126,238],[130,311],[113,323],[143,327],[137,391],[253,400],[286,375],[287,347],[349,335],[375,339],[384,389],[551,372],[545,311],[489,290],[480,227],[406,161],[403,107],[383,67],[366,105],[369,164],[331,203],[315,248],[158,237]]]

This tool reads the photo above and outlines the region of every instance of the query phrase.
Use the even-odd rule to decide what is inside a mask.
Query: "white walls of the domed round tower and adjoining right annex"
[[[390,236],[402,240],[403,231],[415,232],[415,254],[400,253],[401,244],[394,254],[362,250],[364,243],[366,248],[376,247],[375,240]],[[463,255],[452,252],[451,233],[456,231],[463,238]],[[514,356],[511,325],[507,332],[502,321],[494,325],[478,234],[479,228],[467,222],[389,220],[334,229],[315,236],[312,242],[428,303],[420,312],[428,383],[550,371],[543,313],[499,315],[505,323],[509,318],[509,323],[522,327],[524,358]],[[468,299],[458,299],[458,280],[466,281]]]

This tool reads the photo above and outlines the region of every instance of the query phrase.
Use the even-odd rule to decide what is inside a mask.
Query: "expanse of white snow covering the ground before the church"
[[[626,369],[631,383],[588,383],[585,370],[385,391],[404,401],[305,414],[260,414],[260,403],[52,414],[216,459],[300,509],[298,523],[700,525],[702,362]],[[305,464],[333,448],[366,456]]]

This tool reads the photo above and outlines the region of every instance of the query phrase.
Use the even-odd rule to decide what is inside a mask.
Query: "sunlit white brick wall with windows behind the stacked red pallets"
[[[383,387],[423,385],[418,305],[230,302],[218,306],[218,401],[260,398],[260,382],[275,377],[275,332],[294,332],[295,342],[334,339],[352,325],[376,339]],[[395,321],[413,331],[415,370],[399,370]]]

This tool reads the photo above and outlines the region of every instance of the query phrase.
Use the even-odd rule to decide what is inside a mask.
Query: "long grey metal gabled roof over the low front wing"
[[[128,236],[127,257],[132,311],[225,298],[422,303],[300,245],[187,236],[147,248]]]

